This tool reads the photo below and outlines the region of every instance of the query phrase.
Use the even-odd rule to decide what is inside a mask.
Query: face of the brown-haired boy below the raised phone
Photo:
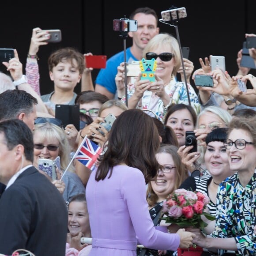
[[[68,91],[74,90],[77,83],[80,82],[81,75],[76,60],[63,60],[49,72],[50,79],[54,81],[54,87]]]

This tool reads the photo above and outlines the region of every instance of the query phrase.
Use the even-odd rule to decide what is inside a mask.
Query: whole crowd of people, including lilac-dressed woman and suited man
[[[256,255],[256,77],[240,66],[240,50],[233,76],[211,70],[208,57],[194,70],[177,39],[159,31],[153,9],[129,18],[138,30],[128,33],[128,63],[155,58],[154,82],[139,73],[126,87],[122,51],[94,83],[83,53],[65,47],[49,56],[53,89],[41,95],[37,53],[49,35],[39,27],[25,74],[16,49],[3,63],[10,75],[0,73],[1,255],[171,256],[192,245],[204,256]],[[256,49],[249,53],[256,63]],[[195,75],[211,75],[214,86],[192,86]],[[252,89],[241,91],[237,79]],[[79,129],[55,117],[56,105],[79,106]],[[109,114],[110,130],[102,125]],[[192,145],[186,132],[194,132]],[[90,167],[74,157],[85,139],[102,149],[93,158],[88,148]],[[53,162],[56,178],[41,160]],[[178,188],[206,194],[215,220],[204,218],[203,229],[164,223],[163,202]]]

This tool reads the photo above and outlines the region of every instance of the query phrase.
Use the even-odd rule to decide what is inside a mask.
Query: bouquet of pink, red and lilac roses
[[[203,211],[209,201],[209,197],[203,193],[177,189],[164,200],[162,211],[166,217],[162,219],[166,223],[175,223],[181,228],[188,226],[204,228],[207,223],[201,219],[201,215],[209,220],[215,220],[214,216]]]

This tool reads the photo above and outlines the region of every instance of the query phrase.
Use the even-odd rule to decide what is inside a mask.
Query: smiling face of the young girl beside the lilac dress
[[[68,230],[72,236],[82,232],[90,233],[89,214],[85,202],[71,202],[68,205]]]

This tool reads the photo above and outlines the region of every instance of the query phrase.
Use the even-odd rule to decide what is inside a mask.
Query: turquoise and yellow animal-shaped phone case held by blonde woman
[[[148,79],[151,83],[155,82],[154,73],[156,70],[156,60],[153,58],[151,60],[145,60],[144,58],[139,61],[139,68],[141,72],[140,80]]]

